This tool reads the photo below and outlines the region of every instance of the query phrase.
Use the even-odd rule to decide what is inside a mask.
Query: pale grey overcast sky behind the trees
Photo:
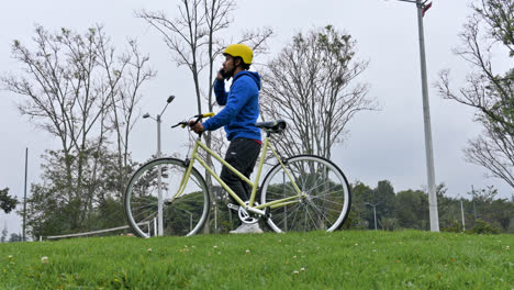
[[[160,112],[167,96],[177,96],[163,125],[163,150],[172,154],[174,141],[181,137],[169,124],[194,114],[192,81],[183,67],[177,67],[163,38],[143,20],[134,16],[141,9],[163,10],[170,16],[177,13],[177,1],[118,0],[118,1],[8,1],[0,19],[0,74],[20,71],[11,58],[13,40],[30,43],[34,24],[49,31],[68,27],[83,32],[96,23],[115,45],[124,45],[126,37],[135,37],[150,65],[158,71],[143,88],[142,112]],[[469,1],[434,0],[424,18],[426,58],[435,156],[436,183],[445,182],[448,194],[467,196],[471,187],[494,186],[501,197],[510,198],[512,189],[500,179],[485,178],[485,170],[463,160],[462,148],[469,138],[481,132],[472,122],[473,111],[452,101],[443,100],[433,88],[437,72],[450,68],[456,88],[462,83],[467,64],[451,53],[458,45],[457,34],[467,15]],[[369,60],[360,81],[370,85],[369,97],[378,100],[381,110],[357,114],[349,123],[350,134],[344,145],[335,149],[334,161],[351,182],[360,180],[376,187],[388,179],[394,190],[426,187],[426,163],[423,131],[423,108],[420,76],[417,18],[414,4],[395,0],[282,0],[237,1],[233,26],[225,32],[227,40],[243,30],[269,26],[276,36],[270,41],[269,55],[256,55],[266,63],[277,55],[299,32],[334,25],[357,41],[357,57]],[[495,71],[512,67],[512,59],[493,59]],[[220,62],[221,65],[221,62]],[[29,147],[29,183],[40,182],[41,155],[45,149],[58,148],[46,133],[37,130],[20,115],[15,103],[22,100],[0,90],[0,188],[23,197],[24,157]],[[141,120],[133,135],[132,152],[136,160],[145,160],[155,153],[155,122]],[[0,213],[0,230],[7,223],[9,232],[21,232],[21,220],[15,214]]]

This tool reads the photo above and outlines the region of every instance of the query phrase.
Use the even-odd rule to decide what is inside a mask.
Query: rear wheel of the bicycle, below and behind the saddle
[[[270,207],[269,227],[277,233],[337,230],[350,208],[350,189],[343,171],[313,155],[293,156],[282,163],[283,167],[278,164],[266,176],[261,204],[291,199]]]

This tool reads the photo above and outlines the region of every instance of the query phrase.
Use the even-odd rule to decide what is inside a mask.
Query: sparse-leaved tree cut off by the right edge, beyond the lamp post
[[[476,121],[484,131],[469,141],[466,159],[514,188],[514,68],[502,74],[492,62],[493,52],[514,57],[514,0],[476,1],[473,10],[459,34],[460,46],[454,49],[472,67],[466,86],[456,92],[448,69],[435,86],[444,98],[477,109]]]

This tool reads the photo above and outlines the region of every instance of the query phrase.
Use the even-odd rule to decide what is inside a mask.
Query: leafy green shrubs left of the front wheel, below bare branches
[[[88,149],[81,154],[85,177],[71,178],[68,183],[64,164],[77,171],[79,154],[66,158],[62,150],[44,155],[43,183],[34,183],[27,199],[27,228],[33,237],[102,230],[125,224],[116,154],[107,147]],[[127,168],[132,171],[134,165]],[[97,175],[92,172],[96,171]],[[127,179],[127,177],[125,177]]]

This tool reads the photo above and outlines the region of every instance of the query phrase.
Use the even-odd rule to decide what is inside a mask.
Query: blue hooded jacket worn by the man
[[[255,126],[259,116],[259,90],[260,76],[255,71],[238,72],[230,91],[225,91],[225,81],[217,79],[214,83],[214,94],[217,104],[225,108],[206,120],[203,127],[214,131],[225,126],[228,141],[238,137],[260,141],[260,130]]]

